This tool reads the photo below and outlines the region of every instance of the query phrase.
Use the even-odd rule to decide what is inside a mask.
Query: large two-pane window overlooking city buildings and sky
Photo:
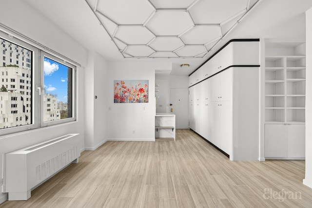
[[[76,67],[4,37],[0,32],[0,135],[74,121]]]

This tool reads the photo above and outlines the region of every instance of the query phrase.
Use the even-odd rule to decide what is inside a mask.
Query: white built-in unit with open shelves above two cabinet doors
[[[266,159],[304,159],[306,57],[304,43],[265,43]]]

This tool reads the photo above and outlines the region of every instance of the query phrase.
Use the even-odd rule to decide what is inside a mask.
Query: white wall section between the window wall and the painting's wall
[[[85,150],[95,150],[107,139],[107,64],[96,52],[88,54],[84,78]]]

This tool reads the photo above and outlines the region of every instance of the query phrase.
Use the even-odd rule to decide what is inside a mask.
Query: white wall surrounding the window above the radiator
[[[40,16],[37,11],[30,8],[23,1],[5,0],[0,2],[1,23],[11,29],[37,40],[39,43],[52,48],[59,54],[71,58],[81,65],[87,63],[87,51],[67,33],[61,31],[48,19]],[[11,8],[11,9],[3,9]],[[12,13],[12,11],[14,11]],[[25,18],[27,21],[25,21]],[[27,23],[25,23],[27,22]],[[13,34],[14,35],[14,34]],[[5,37],[7,38],[7,37]],[[66,133],[80,133],[78,148],[84,149],[84,69],[77,68],[77,121],[64,125],[46,127],[27,132],[6,135],[0,137],[0,179],[2,176],[3,154],[9,151],[20,149],[25,146],[36,144],[50,138]],[[2,186],[0,186],[2,190]],[[7,194],[0,191],[0,203],[7,199]]]

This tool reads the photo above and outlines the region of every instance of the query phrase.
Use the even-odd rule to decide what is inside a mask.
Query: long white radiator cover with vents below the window
[[[78,133],[63,135],[5,154],[4,190],[9,200],[27,200],[40,183],[78,163]]]

